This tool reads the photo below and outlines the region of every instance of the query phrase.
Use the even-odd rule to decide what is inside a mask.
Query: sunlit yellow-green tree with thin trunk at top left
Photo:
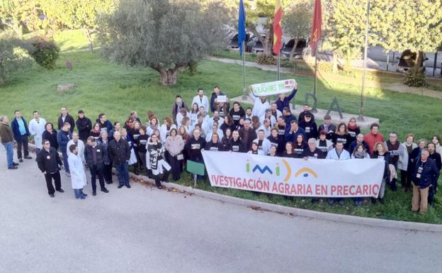
[[[115,0],[40,0],[47,18],[58,26],[82,29],[89,41],[89,50],[94,50],[91,35],[97,28],[99,13],[111,13]]]

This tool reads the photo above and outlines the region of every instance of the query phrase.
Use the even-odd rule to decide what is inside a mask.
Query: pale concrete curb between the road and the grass
[[[29,143],[29,147],[34,148],[32,143]],[[155,184],[153,179],[149,179],[143,175],[136,175],[132,172],[129,173],[130,178],[135,178],[140,181],[148,182],[148,184]],[[380,228],[395,228],[402,230],[414,230],[414,231],[426,231],[426,232],[437,232],[442,233],[442,225],[430,224],[430,223],[416,223],[416,222],[405,222],[405,221],[395,221],[395,220],[384,220],[376,218],[365,218],[360,216],[349,216],[344,214],[327,213],[320,211],[310,211],[303,208],[291,208],[288,206],[280,206],[276,204],[264,203],[261,201],[240,199],[233,196],[228,196],[224,194],[215,194],[210,191],[203,191],[201,189],[194,189],[191,186],[183,186],[176,183],[162,183],[162,186],[166,189],[181,191],[182,193],[195,194],[200,197],[212,199],[215,201],[225,202],[229,204],[235,204],[239,206],[246,206],[261,211],[271,211],[275,213],[281,213],[288,216],[300,216],[305,218],[314,218],[325,221],[334,221],[341,223],[350,223],[354,225],[368,225],[372,227]]]

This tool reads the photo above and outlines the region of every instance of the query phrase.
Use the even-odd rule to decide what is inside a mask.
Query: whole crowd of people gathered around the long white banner
[[[429,142],[420,139],[415,143],[414,135],[409,133],[401,143],[394,131],[385,140],[377,123],[363,135],[356,118],[335,125],[330,116],[324,116],[324,123],[317,126],[307,104],[298,117],[291,113],[290,100],[296,92],[295,87],[288,96],[279,94],[273,102],[251,92],[254,106],[244,109],[237,101],[230,108],[229,100],[219,87],[214,87],[210,99],[201,88],[190,107],[181,96],[176,96],[171,116],[164,117],[162,124],[152,111],[147,112],[145,125],[136,111],[130,111],[124,123],[111,123],[104,113],[93,122],[80,110],[76,121],[67,108],[62,107],[55,128],[53,123],[40,117],[38,111],[33,112],[34,118],[27,123],[16,110],[11,123],[7,116],[0,117],[0,138],[6,148],[8,169],[17,169],[19,163],[13,162],[13,140],[21,163],[23,158],[32,158],[28,138],[33,137],[38,168],[45,175],[51,197],[55,191],[63,192],[62,168],[72,179],[75,197],[84,199],[85,169],[91,174],[93,195],[96,195],[96,179],[101,191],[108,192],[106,184],[113,183],[113,167],[118,174],[118,188],[130,188],[129,165],[134,166],[135,174],[145,172],[152,177],[161,189],[169,175],[175,181],[181,178],[187,160],[203,163],[201,151],[210,150],[305,160],[382,158],[385,171],[378,200],[372,199],[373,203],[384,203],[385,186],[397,190],[397,171],[400,170],[402,189],[413,192],[412,210],[424,213],[428,204],[433,204],[442,167],[441,139],[437,135]],[[312,199],[315,201],[317,199]],[[343,199],[329,199],[329,204],[335,201],[344,204]],[[355,199],[355,204],[361,206],[363,199]]]

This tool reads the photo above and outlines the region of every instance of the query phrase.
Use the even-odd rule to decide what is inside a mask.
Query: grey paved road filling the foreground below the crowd
[[[441,272],[440,233],[289,217],[133,184],[51,199],[0,149],[0,272]],[[91,193],[90,185],[86,193]]]

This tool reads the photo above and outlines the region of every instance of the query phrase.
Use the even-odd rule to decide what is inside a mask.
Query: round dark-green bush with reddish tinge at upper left
[[[46,40],[42,37],[35,38],[32,46],[33,50],[31,50],[30,55],[35,62],[46,69],[55,69],[55,62],[57,62],[60,55],[60,48],[52,40]]]

